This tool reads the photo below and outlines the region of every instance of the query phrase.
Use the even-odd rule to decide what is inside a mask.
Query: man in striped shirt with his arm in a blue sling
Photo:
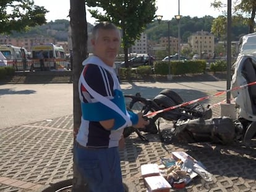
[[[118,147],[124,144],[125,127],[148,125],[142,114],[126,110],[124,96],[113,69],[121,43],[118,28],[109,22],[92,31],[93,56],[83,61],[79,80],[82,118],[77,134],[74,161],[89,191],[122,192]]]

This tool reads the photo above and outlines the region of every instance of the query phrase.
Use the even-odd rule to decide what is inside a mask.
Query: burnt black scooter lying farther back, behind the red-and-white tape
[[[155,98],[146,99],[143,98],[140,93],[136,93],[134,95],[125,95],[125,98],[129,98],[130,102],[127,104],[127,109],[132,111],[140,111],[144,115],[149,112],[156,112],[161,109],[165,109],[170,106],[176,106],[178,104],[182,104],[184,101],[175,91],[171,89],[165,89],[161,91]],[[142,105],[142,107],[137,107],[137,104]],[[138,109],[140,108],[140,109]],[[127,127],[124,129],[124,138],[129,136],[131,133],[136,132],[137,135],[143,140],[148,141],[145,136],[143,136],[140,131],[152,133],[152,134],[160,134],[160,138],[163,139],[163,134],[160,130],[160,119],[168,120],[172,123],[176,123],[178,120],[188,120],[188,119],[210,119],[212,116],[212,111],[208,106],[204,106],[198,102],[194,104],[190,104],[189,106],[178,107],[171,111],[163,112],[156,114],[155,116],[148,118],[150,121],[149,125],[145,128],[134,128]],[[147,117],[146,117],[147,118]],[[165,134],[168,137],[168,135]]]

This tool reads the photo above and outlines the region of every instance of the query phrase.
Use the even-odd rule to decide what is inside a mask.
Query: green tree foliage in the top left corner
[[[36,6],[31,0],[0,1],[0,33],[24,31],[29,27],[46,23],[44,7]]]

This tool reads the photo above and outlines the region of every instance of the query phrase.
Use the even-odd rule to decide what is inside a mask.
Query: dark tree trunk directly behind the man
[[[87,57],[87,20],[85,12],[85,1],[70,0],[70,28],[72,38],[72,54],[73,54],[73,117],[74,117],[74,143],[75,136],[80,127],[81,121],[81,107],[79,99],[78,82],[80,73],[82,72],[82,62]],[[81,175],[77,172],[75,164],[73,165],[73,192],[80,192],[84,190],[84,181]]]

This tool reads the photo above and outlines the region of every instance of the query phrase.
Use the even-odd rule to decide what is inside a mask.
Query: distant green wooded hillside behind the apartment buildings
[[[187,38],[195,33],[196,31],[211,31],[211,24],[215,18],[209,15],[205,17],[189,17],[184,16],[180,20],[181,25],[181,39],[182,42],[187,42]],[[92,31],[93,25],[87,23],[88,32]],[[170,25],[170,36],[177,36],[177,20],[172,18],[169,20]],[[69,20],[55,20],[54,22],[46,23],[38,27],[33,27],[25,33],[14,32],[11,37],[19,38],[25,36],[37,36],[44,35],[55,38],[57,41],[67,41],[69,30]],[[159,40],[161,36],[168,36],[168,21],[162,20],[160,23],[154,21],[148,24],[145,29],[145,33],[148,35],[148,40]],[[238,41],[242,35],[248,33],[248,27],[243,25],[243,23],[238,23],[236,26],[232,27],[231,38],[232,41]]]

